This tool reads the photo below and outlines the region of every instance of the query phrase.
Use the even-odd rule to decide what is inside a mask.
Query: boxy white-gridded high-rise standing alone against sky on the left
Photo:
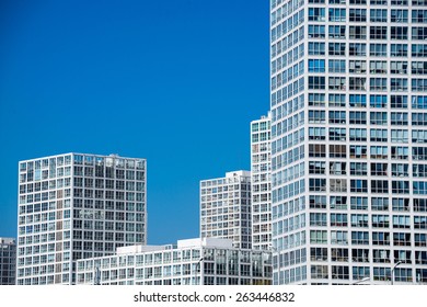
[[[74,284],[76,261],[147,243],[146,160],[66,154],[19,163],[19,285]]]

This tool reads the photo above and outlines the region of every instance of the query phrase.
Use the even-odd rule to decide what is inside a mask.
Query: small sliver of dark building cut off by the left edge
[[[14,285],[16,276],[16,241],[0,238],[0,285]]]

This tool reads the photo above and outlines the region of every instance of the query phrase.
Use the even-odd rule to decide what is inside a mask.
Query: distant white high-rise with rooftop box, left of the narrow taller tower
[[[200,181],[200,238],[231,239],[251,249],[251,172]]]

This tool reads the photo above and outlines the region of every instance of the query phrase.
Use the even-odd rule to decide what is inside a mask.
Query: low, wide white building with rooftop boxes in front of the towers
[[[269,285],[272,254],[239,250],[230,239],[180,240],[173,246],[136,246],[117,254],[77,262],[77,284]]]

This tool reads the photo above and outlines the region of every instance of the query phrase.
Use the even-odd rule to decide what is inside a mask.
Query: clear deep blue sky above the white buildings
[[[267,113],[267,0],[0,1],[0,237],[18,161],[147,158],[148,240],[198,236],[203,179],[250,169]]]

